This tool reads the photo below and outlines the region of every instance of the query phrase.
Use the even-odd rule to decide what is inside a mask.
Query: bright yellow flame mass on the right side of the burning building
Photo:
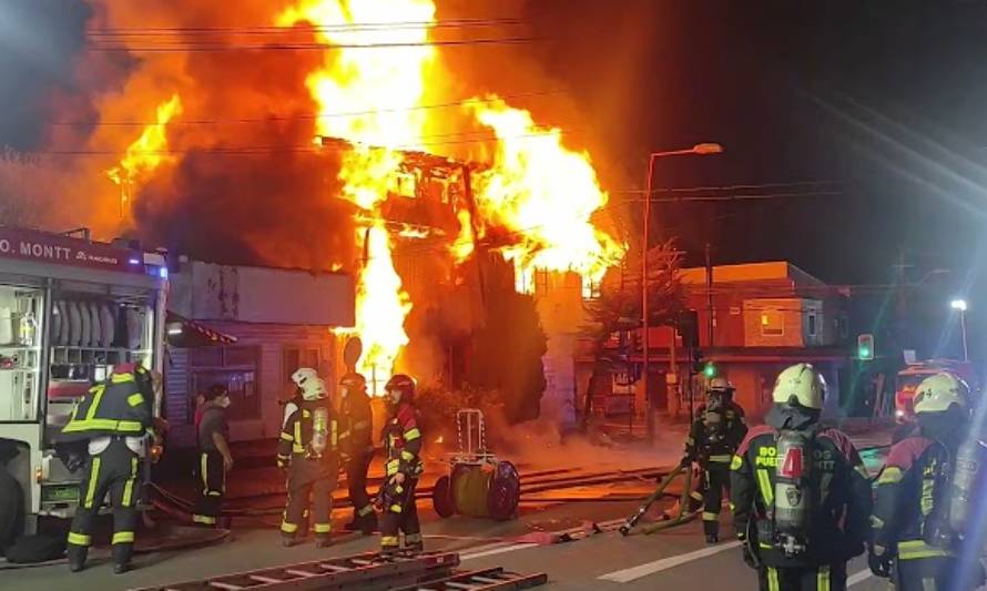
[[[476,200],[486,223],[515,233],[502,252],[518,285],[533,285],[536,268],[600,281],[624,248],[593,226],[609,197],[589,154],[567,150],[560,130],[540,128],[528,111],[496,98],[469,108],[499,140],[494,166],[477,173]]]

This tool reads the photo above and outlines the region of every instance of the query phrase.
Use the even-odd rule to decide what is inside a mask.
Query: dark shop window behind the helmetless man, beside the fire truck
[[[226,386],[231,420],[261,418],[260,357],[257,347],[252,346],[192,349],[192,391],[204,393],[216,384]]]

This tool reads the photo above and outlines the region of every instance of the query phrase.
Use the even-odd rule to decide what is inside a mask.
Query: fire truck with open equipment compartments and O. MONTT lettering
[[[163,252],[93,242],[85,230],[0,227],[0,513],[16,507],[7,519],[26,531],[40,516],[74,512],[81,470],[65,467],[55,442],[92,383],[124,363],[161,371],[165,263]]]

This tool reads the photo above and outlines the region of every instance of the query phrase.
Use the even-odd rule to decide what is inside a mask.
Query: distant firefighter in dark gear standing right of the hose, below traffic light
[[[683,467],[698,462],[701,470],[703,532],[706,543],[720,542],[720,508],[723,489],[730,497],[730,461],[747,434],[744,410],[733,401],[734,387],[716,377],[706,390],[706,404],[699,408],[685,439]]]

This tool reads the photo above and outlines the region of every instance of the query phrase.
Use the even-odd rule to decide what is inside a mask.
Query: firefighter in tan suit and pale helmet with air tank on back
[[[287,470],[288,490],[282,544],[295,544],[311,503],[315,546],[325,548],[332,543],[333,490],[339,471],[336,420],[326,384],[314,370],[299,369],[292,379],[298,391],[286,407],[291,414],[285,418],[277,449],[277,466]]]

